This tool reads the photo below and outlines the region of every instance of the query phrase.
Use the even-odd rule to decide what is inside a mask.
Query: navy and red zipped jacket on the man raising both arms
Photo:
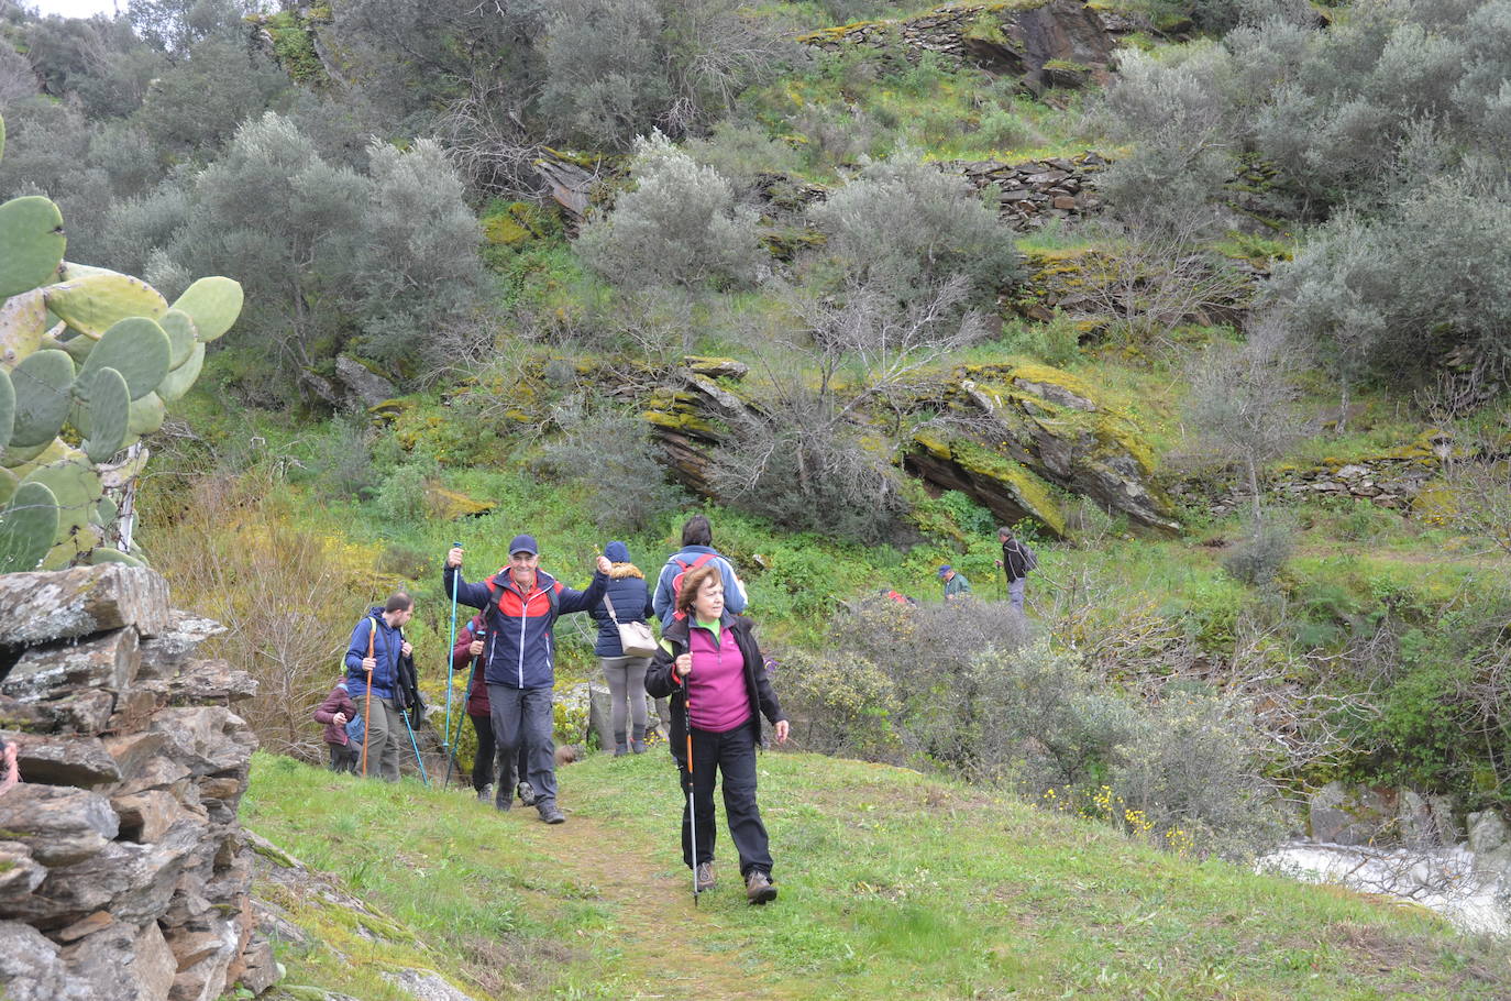
[[[555,685],[556,643],[552,628],[556,617],[588,611],[609,587],[606,573],[594,573],[588,590],[574,591],[544,570],[536,570],[535,590],[523,594],[508,567],[485,584],[467,584],[456,569],[444,567],[441,585],[447,596],[452,593],[452,575],[456,576],[456,602],[480,608],[488,621],[482,652],[484,680],[506,688]]]

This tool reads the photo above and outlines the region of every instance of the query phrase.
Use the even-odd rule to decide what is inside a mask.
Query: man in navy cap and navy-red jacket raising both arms
[[[556,744],[552,741],[556,643],[552,628],[558,615],[585,612],[603,599],[610,564],[598,556],[592,584],[585,591],[574,591],[539,569],[535,537],[515,535],[509,543],[509,566],[487,582],[467,584],[461,566],[458,546],[446,553],[441,584],[447,594],[456,588],[459,603],[480,608],[488,623],[482,662],[497,753],[512,761],[524,741],[535,809],[547,824],[561,824],[567,818],[556,806]]]

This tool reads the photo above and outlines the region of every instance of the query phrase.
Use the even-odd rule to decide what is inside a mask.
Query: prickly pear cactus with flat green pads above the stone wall
[[[103,544],[119,519],[109,491],[147,452],[118,457],[162,426],[242,311],[231,278],[169,305],[141,278],[63,260],[66,245],[50,200],[0,204],[0,573],[141,562]]]

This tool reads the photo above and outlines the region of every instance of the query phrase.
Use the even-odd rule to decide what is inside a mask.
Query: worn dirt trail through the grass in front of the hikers
[[[524,810],[533,820],[533,810]],[[591,817],[574,814],[561,827],[532,824],[532,842],[550,856],[561,871],[598,891],[597,900],[615,909],[615,930],[609,933],[623,956],[613,972],[626,975],[636,998],[783,998],[775,975],[742,962],[734,951],[709,951],[704,941],[725,927],[718,913],[725,897],[743,886],[739,871],[725,863],[719,885],[692,903],[692,877],[680,860],[656,857],[642,844],[626,844],[624,830]],[[712,897],[718,895],[715,904]],[[740,904],[743,906],[743,903]]]

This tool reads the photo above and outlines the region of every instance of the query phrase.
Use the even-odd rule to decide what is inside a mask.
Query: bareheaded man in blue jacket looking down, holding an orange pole
[[[413,615],[414,599],[396,591],[387,603],[367,609],[352,629],[352,641],[346,647],[346,691],[352,705],[364,714],[367,771],[385,782],[399,780],[399,752],[408,750],[394,696],[399,691],[399,658],[414,653],[414,647],[403,638],[403,626]]]

